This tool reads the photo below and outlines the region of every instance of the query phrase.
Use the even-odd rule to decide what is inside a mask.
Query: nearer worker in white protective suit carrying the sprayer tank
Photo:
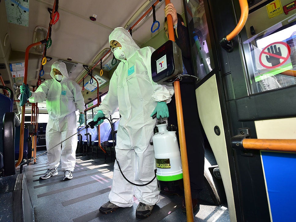
[[[166,103],[170,102],[174,89],[152,81],[152,47],[140,49],[129,32],[121,27],[111,32],[109,42],[114,56],[121,62],[93,120],[109,116],[119,107],[121,119],[117,130],[116,159],[130,182],[146,184],[153,179],[156,169],[153,146],[150,145],[156,119],[151,116],[155,113],[158,118],[169,116]],[[109,213],[118,207],[131,207],[133,196],[140,202],[136,217],[149,216],[153,206],[160,201],[156,179],[146,186],[132,185],[123,178],[115,161],[110,201],[99,211]]]

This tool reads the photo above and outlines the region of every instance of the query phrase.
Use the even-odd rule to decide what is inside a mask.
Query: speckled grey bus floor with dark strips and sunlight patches
[[[40,151],[37,155],[41,154]],[[114,162],[91,156],[77,156],[73,179],[63,181],[64,173],[58,167],[58,175],[46,180],[39,176],[46,170],[46,154],[37,159],[37,164],[26,166],[26,179],[32,201],[35,221],[186,221],[182,212],[182,197],[160,194],[161,201],[154,206],[152,215],[144,219],[136,218],[139,201],[134,197],[134,205],[118,208],[113,213],[99,213],[106,203],[111,190]],[[230,221],[228,209],[207,202],[200,202],[200,210],[194,213],[194,221]]]

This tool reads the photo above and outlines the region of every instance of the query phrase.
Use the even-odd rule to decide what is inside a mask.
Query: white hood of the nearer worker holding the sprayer
[[[121,44],[122,50],[126,54],[126,60],[129,60],[140,49],[129,32],[122,27],[117,27],[111,32],[109,35],[109,44],[111,40],[116,40]],[[125,61],[124,59],[120,60]]]

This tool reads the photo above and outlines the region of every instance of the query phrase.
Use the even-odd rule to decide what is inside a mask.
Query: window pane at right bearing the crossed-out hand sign
[[[285,25],[283,25],[285,24]],[[251,93],[296,84],[296,21],[287,18],[244,42]]]

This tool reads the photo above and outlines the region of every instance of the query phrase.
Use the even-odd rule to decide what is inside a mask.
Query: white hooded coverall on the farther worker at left
[[[52,69],[59,70],[62,81],[58,82]],[[46,126],[46,148],[51,149],[59,142],[77,132],[77,117],[75,111],[84,112],[84,99],[79,85],[69,80],[65,63],[54,62],[51,66],[52,79],[44,81],[32,96],[31,103],[43,102],[46,98],[46,108],[49,114]],[[47,153],[47,166],[56,168],[61,160],[62,170],[73,171],[76,162],[75,151],[77,137],[73,136]]]

